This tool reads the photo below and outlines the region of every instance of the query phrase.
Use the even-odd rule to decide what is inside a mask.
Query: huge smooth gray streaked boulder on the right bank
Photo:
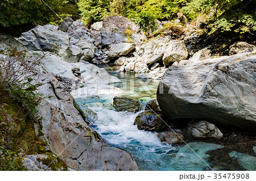
[[[255,62],[254,53],[242,53],[171,66],[159,83],[159,106],[171,119],[255,132]]]

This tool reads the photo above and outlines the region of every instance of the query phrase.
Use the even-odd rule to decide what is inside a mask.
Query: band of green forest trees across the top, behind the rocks
[[[208,33],[253,40],[255,7],[255,0],[1,0],[0,31],[19,36],[38,24],[57,25],[67,16],[89,27],[106,16],[121,15],[138,24],[174,20],[181,12],[188,22],[203,19]]]

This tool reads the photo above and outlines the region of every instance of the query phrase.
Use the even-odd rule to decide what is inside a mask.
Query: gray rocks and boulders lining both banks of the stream
[[[180,37],[166,32],[173,26],[182,32]],[[89,127],[86,121],[97,118],[97,113],[88,108],[82,112],[75,99],[113,99],[107,106],[101,104],[113,106],[115,112],[140,111],[134,125],[158,132],[156,137],[167,144],[218,144],[221,154],[208,151],[214,159],[240,159],[240,153],[255,156],[255,46],[237,42],[220,49],[210,38],[200,44],[202,31],[190,24],[162,22],[162,31],[147,40],[127,18],[112,16],[90,29],[81,20],[66,18],[59,27],[37,26],[15,39],[0,35],[1,53],[15,47],[38,57],[34,74],[26,74],[44,96],[36,108],[41,118],[34,123],[34,132],[44,140],[51,158],[60,158],[59,170],[138,169],[129,153],[109,146]],[[215,40],[221,47],[221,38]],[[5,58],[9,57],[1,54],[1,60]],[[144,105],[122,96],[123,90],[115,87],[120,79],[93,64],[118,65],[119,72],[139,73],[144,81],[160,79],[157,100]],[[22,153],[19,159],[28,170],[49,169],[40,162],[48,159],[46,153]]]

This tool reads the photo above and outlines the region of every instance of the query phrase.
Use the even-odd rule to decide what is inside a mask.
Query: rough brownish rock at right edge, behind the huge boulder
[[[256,50],[254,45],[250,45],[249,43],[238,41],[232,44],[229,47],[229,55],[237,54],[237,53],[245,53],[245,52],[253,52]]]

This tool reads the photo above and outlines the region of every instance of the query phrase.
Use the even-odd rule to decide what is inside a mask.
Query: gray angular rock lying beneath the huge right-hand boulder
[[[182,130],[183,134],[195,138],[216,138],[221,139],[223,134],[220,129],[207,121],[190,121]]]

